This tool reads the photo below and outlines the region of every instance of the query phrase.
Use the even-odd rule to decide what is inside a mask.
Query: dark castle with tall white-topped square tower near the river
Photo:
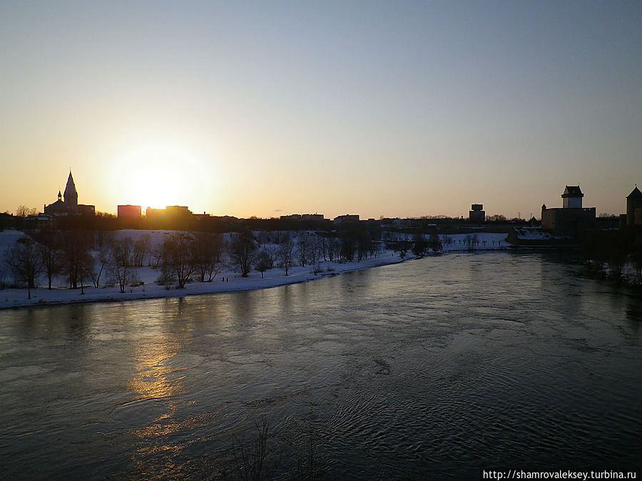
[[[595,226],[595,207],[582,207],[584,194],[579,185],[566,185],[561,195],[564,207],[541,206],[541,228],[556,235],[581,236]]]

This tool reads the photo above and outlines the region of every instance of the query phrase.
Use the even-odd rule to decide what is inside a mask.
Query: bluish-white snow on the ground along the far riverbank
[[[114,232],[116,238],[129,237],[134,242],[141,237],[148,236],[152,247],[160,246],[168,234],[173,231],[139,231],[139,230],[121,230]],[[17,239],[24,234],[18,231],[0,232],[0,256],[4,257],[3,252],[14,245]],[[228,235],[226,234],[226,238]],[[478,232],[476,234],[454,234],[440,236],[443,244],[443,252],[461,252],[472,250],[496,250],[507,249],[506,234],[491,234],[487,232]],[[1,259],[2,257],[0,257]],[[184,289],[177,289],[174,286],[161,286],[156,283],[160,276],[158,269],[151,267],[136,268],[136,278],[143,281],[139,286],[127,286],[124,293],[120,292],[118,285],[101,286],[95,288],[84,286],[84,294],[81,289],[68,289],[64,286],[61,278],[57,279],[58,287],[46,289],[39,287],[31,289],[31,299],[28,299],[29,291],[27,289],[0,289],[0,309],[23,307],[23,306],[43,306],[51,304],[71,304],[74,302],[93,302],[93,301],[125,301],[133,299],[151,299],[157,297],[181,297],[195,294],[218,294],[223,292],[248,291],[253,289],[265,289],[267,287],[282,286],[285,284],[294,284],[297,282],[311,281],[320,279],[325,276],[341,274],[347,271],[367,269],[370,267],[383,266],[387,264],[396,264],[414,256],[408,254],[401,257],[399,252],[384,250],[379,252],[377,257],[365,259],[361,262],[321,262],[320,271],[315,274],[311,266],[292,267],[288,269],[288,275],[281,268],[270,269],[265,271],[263,279],[258,271],[250,272],[248,277],[242,277],[232,268],[220,272],[212,282],[191,282]],[[6,272],[6,269],[5,269]],[[5,279],[9,281],[9,279]]]

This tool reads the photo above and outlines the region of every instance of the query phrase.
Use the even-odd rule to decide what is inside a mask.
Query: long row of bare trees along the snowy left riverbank
[[[158,283],[185,287],[190,281],[212,282],[225,269],[247,277],[255,269],[263,273],[279,267],[309,266],[315,273],[321,262],[353,262],[376,257],[377,232],[365,229],[328,232],[253,232],[229,234],[171,232],[153,245],[145,234],[134,240],[114,232],[81,229],[41,229],[21,237],[4,254],[4,274],[15,286],[34,289],[41,277],[48,289],[64,279],[69,289],[84,286],[140,285],[137,271],[147,265],[158,269]],[[3,274],[0,273],[0,284]]]

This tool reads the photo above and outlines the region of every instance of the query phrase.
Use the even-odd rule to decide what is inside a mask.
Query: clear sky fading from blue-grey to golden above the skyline
[[[0,0],[0,212],[539,217],[642,185],[641,1]]]

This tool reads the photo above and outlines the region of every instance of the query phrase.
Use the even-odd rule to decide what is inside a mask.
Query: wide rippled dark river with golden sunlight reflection
[[[6,479],[479,477],[642,458],[642,295],[551,254],[0,311]]]

